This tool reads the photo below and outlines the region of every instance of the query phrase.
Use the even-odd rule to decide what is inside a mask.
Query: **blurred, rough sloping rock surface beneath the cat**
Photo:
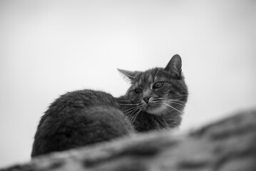
[[[256,110],[237,113],[190,133],[132,135],[37,157],[2,171],[256,170]]]

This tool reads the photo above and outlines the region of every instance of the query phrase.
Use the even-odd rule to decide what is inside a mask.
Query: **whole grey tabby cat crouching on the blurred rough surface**
[[[180,56],[173,56],[165,68],[118,71],[131,83],[119,98],[76,90],[51,103],[39,121],[31,157],[180,125],[188,98]]]

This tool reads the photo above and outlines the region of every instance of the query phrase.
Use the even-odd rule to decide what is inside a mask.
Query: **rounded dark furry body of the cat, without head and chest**
[[[112,140],[131,132],[133,126],[111,94],[76,90],[61,95],[46,110],[31,156]]]

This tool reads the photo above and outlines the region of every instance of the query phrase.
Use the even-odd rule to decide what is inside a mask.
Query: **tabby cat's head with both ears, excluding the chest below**
[[[181,113],[188,98],[181,71],[181,58],[173,56],[165,68],[147,71],[120,71],[131,83],[124,98],[130,110],[137,108],[153,115],[165,115],[172,111]],[[129,104],[126,104],[128,107]]]

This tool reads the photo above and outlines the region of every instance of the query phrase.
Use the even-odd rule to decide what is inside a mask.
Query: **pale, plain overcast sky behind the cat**
[[[178,53],[190,96],[181,130],[256,107],[256,1],[0,1],[0,167],[30,160],[48,105],[71,90],[123,95],[116,68]]]

